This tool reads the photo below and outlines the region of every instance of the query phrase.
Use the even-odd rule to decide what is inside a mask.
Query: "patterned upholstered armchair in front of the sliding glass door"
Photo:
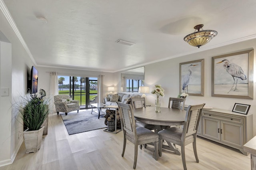
[[[69,101],[67,99],[69,99]],[[65,115],[68,115],[68,112],[76,110],[78,113],[80,109],[79,101],[72,100],[69,95],[54,96],[54,105],[56,108],[57,115],[59,114],[59,112],[64,112]]]

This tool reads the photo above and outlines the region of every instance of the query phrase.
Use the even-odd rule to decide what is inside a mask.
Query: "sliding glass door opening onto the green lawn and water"
[[[59,94],[67,94],[80,101],[80,109],[90,108],[90,99],[98,95],[97,77],[58,76]]]

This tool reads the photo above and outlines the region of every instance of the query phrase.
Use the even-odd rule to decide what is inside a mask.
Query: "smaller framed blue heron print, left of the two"
[[[180,63],[180,93],[204,96],[204,59]]]

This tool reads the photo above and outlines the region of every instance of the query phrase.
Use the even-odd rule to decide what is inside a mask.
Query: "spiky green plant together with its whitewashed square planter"
[[[22,98],[19,108],[19,117],[23,121],[23,137],[26,146],[26,153],[37,152],[40,149],[44,127],[42,124],[49,114],[48,102],[44,100],[45,91],[40,89],[40,97],[36,94],[30,98]]]

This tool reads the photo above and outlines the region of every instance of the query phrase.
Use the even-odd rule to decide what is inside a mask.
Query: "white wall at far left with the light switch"
[[[0,97],[0,166],[11,164],[22,144],[23,126],[15,119],[18,111],[12,106],[20,95],[25,95],[27,73],[32,60],[16,34],[0,12],[0,88],[8,88],[9,96]],[[5,43],[10,42],[10,43]],[[3,51],[8,50],[8,52]]]

